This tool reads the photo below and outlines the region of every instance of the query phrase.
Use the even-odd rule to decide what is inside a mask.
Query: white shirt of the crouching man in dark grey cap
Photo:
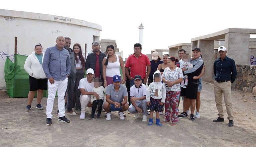
[[[146,93],[147,87],[144,84],[141,84],[139,88],[137,88],[135,85],[130,88],[130,97],[141,98],[146,96]],[[141,102],[141,100],[137,100],[136,102]]]

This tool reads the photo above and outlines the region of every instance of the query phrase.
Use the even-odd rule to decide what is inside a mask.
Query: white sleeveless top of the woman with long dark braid
[[[106,69],[106,77],[114,77],[115,75],[121,76],[120,74],[120,61],[118,55],[116,55],[117,61],[116,62],[108,62],[107,69]]]

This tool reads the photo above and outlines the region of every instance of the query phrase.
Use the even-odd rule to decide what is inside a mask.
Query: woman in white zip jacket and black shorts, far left
[[[37,91],[37,103],[36,109],[43,109],[41,106],[41,100],[43,97],[43,90],[47,90],[47,77],[42,68],[43,62],[43,48],[42,45],[36,44],[35,51],[29,55],[25,61],[24,69],[29,74],[29,93],[28,93],[28,105],[25,111],[31,110],[31,103],[34,98],[35,92]]]

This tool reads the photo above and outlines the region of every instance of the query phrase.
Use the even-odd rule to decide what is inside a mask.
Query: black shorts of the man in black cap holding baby
[[[180,87],[180,95],[188,99],[197,99],[198,84],[188,83],[186,87]]]

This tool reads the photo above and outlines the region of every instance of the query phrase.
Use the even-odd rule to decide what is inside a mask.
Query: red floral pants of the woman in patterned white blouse
[[[166,91],[166,98],[164,103],[165,108],[165,120],[172,123],[178,122],[178,102],[179,102],[180,92]]]

